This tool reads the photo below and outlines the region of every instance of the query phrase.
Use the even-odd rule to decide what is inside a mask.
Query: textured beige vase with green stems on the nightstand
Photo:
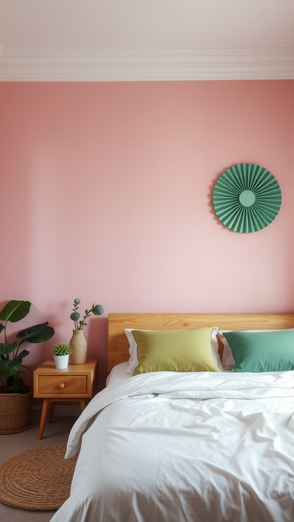
[[[73,336],[70,340],[72,347],[71,363],[72,364],[83,364],[87,358],[87,341],[83,334],[84,326],[87,326],[85,319],[91,314],[101,315],[104,312],[104,307],[101,304],[94,304],[90,310],[86,309],[83,318],[80,319],[80,313],[77,312],[78,305],[81,303],[81,299],[75,299],[73,303],[73,312],[71,313],[71,319],[74,321],[75,329],[73,330]]]

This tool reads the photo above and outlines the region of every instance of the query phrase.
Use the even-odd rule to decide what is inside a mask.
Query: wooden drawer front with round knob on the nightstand
[[[87,393],[86,375],[39,375],[38,394],[74,394]]]

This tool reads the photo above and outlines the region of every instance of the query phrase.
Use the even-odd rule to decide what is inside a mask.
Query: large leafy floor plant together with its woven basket
[[[18,433],[29,428],[32,401],[31,371],[29,385],[19,376],[22,359],[29,354],[20,350],[22,343],[40,343],[54,335],[54,329],[47,323],[30,326],[16,335],[16,340],[7,342],[7,323],[17,323],[30,311],[29,301],[9,301],[0,312],[0,333],[4,342],[0,343],[0,434]],[[26,366],[24,366],[26,367]]]

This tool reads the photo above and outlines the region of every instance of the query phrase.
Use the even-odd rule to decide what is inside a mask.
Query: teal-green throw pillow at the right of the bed
[[[234,372],[294,370],[294,331],[223,332],[235,360]]]

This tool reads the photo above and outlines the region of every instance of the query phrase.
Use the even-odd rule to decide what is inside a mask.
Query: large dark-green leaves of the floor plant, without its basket
[[[39,343],[51,339],[54,329],[47,323],[30,326],[21,330],[16,335],[16,341],[7,342],[6,325],[8,322],[17,323],[26,317],[30,311],[29,301],[9,301],[0,312],[0,333],[4,334],[5,342],[0,343],[0,379],[5,386],[2,377],[6,378],[6,388],[8,393],[26,393],[24,381],[19,378],[22,359],[30,352],[28,350],[19,351],[23,342]],[[11,357],[10,357],[11,356]]]

